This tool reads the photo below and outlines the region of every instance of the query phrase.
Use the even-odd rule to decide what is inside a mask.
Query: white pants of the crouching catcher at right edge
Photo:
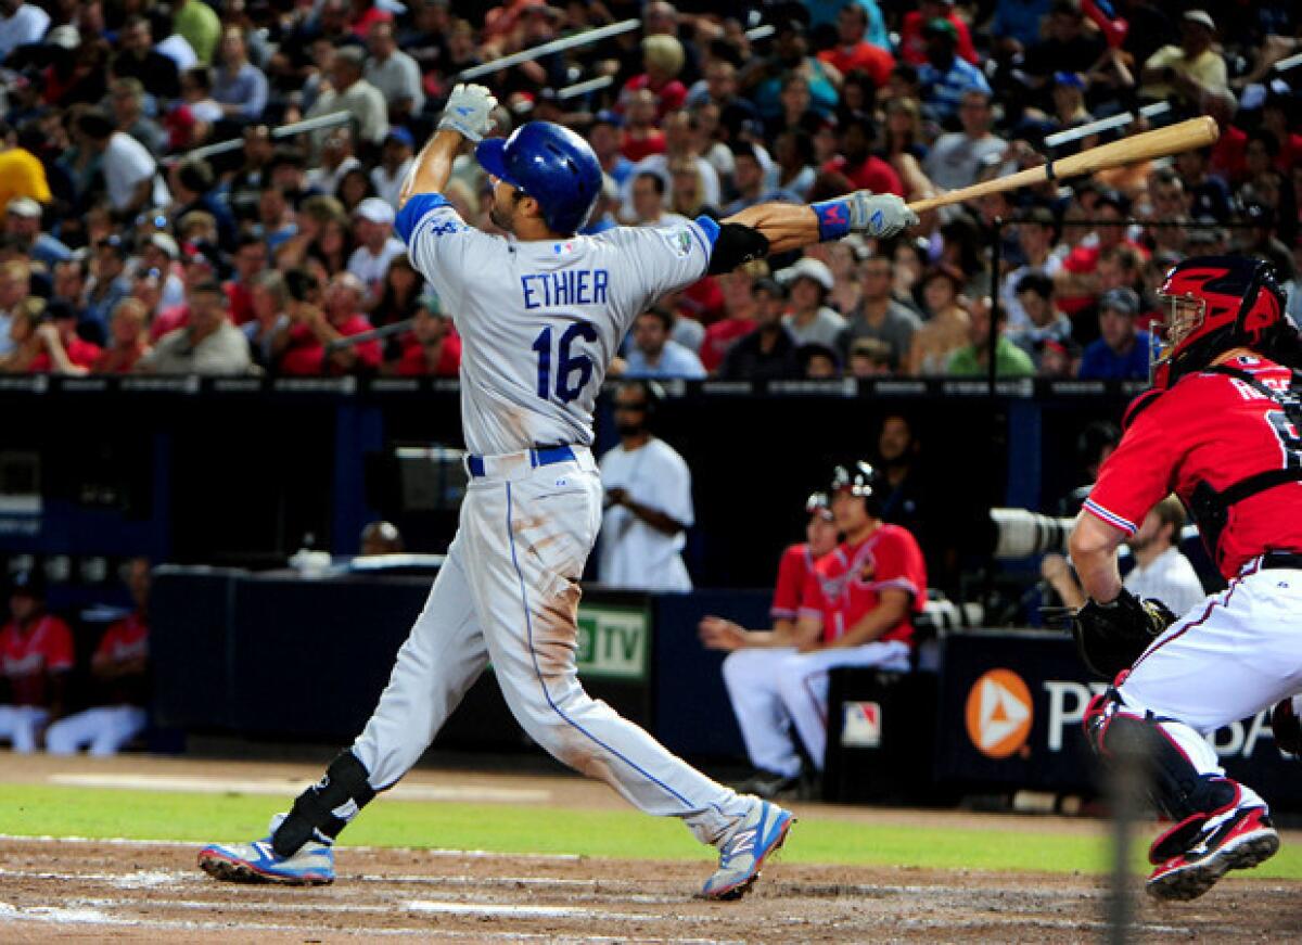
[[[1117,690],[1202,774],[1224,776],[1203,735],[1302,690],[1302,571],[1250,562],[1229,587],[1172,623]],[[1264,806],[1243,786],[1242,806]]]

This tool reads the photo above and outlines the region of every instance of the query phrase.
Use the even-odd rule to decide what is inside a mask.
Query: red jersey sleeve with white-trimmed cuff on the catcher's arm
[[[1085,500],[1086,512],[1126,535],[1174,488],[1180,433],[1187,424],[1173,407],[1178,407],[1173,398],[1159,396],[1134,418]]]

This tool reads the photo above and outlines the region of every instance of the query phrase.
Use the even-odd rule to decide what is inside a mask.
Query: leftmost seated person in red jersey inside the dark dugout
[[[9,614],[0,627],[0,739],[30,754],[46,725],[62,716],[73,634],[46,613],[46,587],[36,571],[14,578]]]

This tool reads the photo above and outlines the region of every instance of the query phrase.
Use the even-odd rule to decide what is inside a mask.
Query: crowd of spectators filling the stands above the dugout
[[[993,357],[1003,376],[1144,377],[1155,285],[1229,250],[1271,259],[1302,311],[1290,3],[0,0],[0,14],[5,372],[454,376],[454,312],[392,233],[413,155],[464,70],[628,18],[641,27],[475,79],[501,133],[547,118],[587,135],[607,180],[585,233],[855,187],[921,199],[1150,120],[1210,115],[1223,135],[931,212],[894,243],[703,279],[637,319],[616,374],[962,376]],[[1046,142],[1124,112],[1139,117]],[[447,195],[491,230],[487,193],[462,158]]]

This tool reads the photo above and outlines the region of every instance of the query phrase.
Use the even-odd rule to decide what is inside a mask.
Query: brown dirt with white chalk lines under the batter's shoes
[[[216,883],[197,845],[0,840],[0,941],[1026,941],[1104,933],[1088,877],[772,864],[733,903],[695,899],[710,864],[342,847],[314,889]],[[1302,927],[1288,884],[1138,903],[1138,940]]]

